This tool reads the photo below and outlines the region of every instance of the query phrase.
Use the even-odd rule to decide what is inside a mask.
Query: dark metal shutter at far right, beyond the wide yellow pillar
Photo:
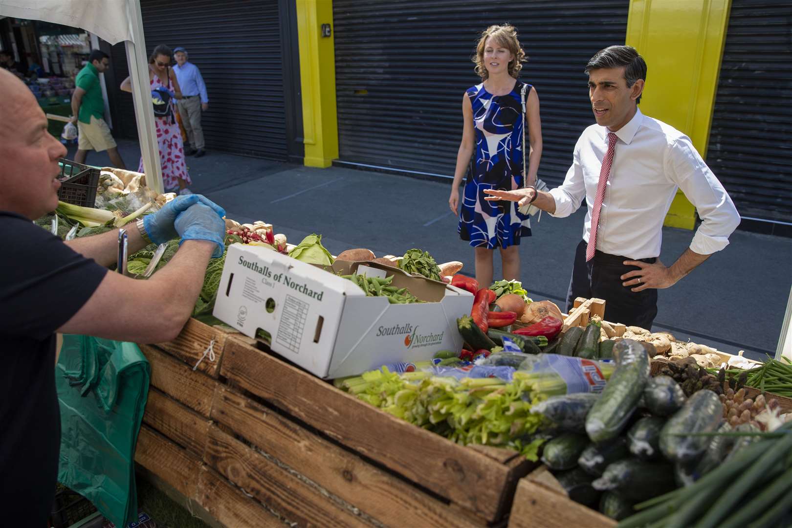
[[[744,218],[792,222],[792,6],[733,0],[707,165]]]

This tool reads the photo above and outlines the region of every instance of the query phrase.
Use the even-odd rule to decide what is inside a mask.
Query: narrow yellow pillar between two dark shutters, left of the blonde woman
[[[330,36],[322,36],[322,25],[329,26]],[[297,32],[304,163],[309,167],[329,167],[338,158],[332,0],[297,0]]]

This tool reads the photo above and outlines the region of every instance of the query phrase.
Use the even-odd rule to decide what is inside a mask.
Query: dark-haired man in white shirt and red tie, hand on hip
[[[630,46],[598,51],[586,65],[596,124],[577,140],[561,187],[537,192],[485,190],[488,200],[532,203],[550,215],[571,215],[586,200],[566,310],[577,297],[607,301],[608,321],[651,329],[657,289],[673,286],[729,244],[740,216],[691,140],[638,109],[646,63]],[[669,267],[660,256],[668,207],[682,189],[702,223]],[[592,226],[594,226],[592,228]]]

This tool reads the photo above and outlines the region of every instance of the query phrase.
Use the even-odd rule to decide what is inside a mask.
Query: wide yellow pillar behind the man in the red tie
[[[626,44],[648,66],[641,111],[690,137],[702,158],[729,23],[731,0],[631,0]],[[695,207],[676,193],[665,226],[692,230]]]

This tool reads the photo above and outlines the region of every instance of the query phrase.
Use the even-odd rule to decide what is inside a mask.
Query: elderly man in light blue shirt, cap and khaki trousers
[[[181,86],[182,98],[179,100],[179,115],[181,124],[187,131],[189,148],[185,149],[185,154],[200,158],[206,151],[204,150],[204,129],[200,126],[201,111],[209,108],[209,97],[206,94],[204,78],[200,75],[198,66],[188,61],[187,50],[184,47],[177,47],[173,50],[176,56],[176,78]]]

